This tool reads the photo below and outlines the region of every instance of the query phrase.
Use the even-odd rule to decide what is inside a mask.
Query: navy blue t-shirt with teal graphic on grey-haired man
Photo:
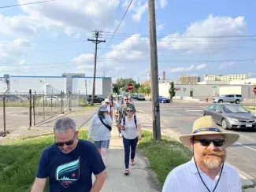
[[[68,154],[55,144],[46,147],[36,177],[49,177],[50,192],[87,192],[91,190],[92,173],[98,175],[105,169],[95,144],[79,139],[76,149]]]

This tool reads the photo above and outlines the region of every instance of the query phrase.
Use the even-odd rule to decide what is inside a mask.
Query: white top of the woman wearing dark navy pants
[[[136,117],[137,126],[139,126],[140,122],[138,120],[138,117]],[[136,127],[134,116],[132,116],[132,120],[128,121],[128,116],[125,116],[125,125],[124,125],[124,119],[121,121],[121,126],[125,127],[125,131],[121,130],[121,134],[126,139],[134,139],[139,136],[138,128]]]

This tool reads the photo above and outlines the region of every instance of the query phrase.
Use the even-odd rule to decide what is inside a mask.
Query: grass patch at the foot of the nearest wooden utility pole
[[[163,136],[159,142],[154,142],[152,133],[149,131],[143,131],[138,150],[147,157],[148,168],[156,173],[156,179],[161,187],[173,168],[190,161],[192,157],[191,150],[167,136]]]

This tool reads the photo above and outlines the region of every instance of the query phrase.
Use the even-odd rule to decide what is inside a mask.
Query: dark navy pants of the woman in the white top
[[[136,153],[136,146],[138,143],[138,137],[134,139],[127,139],[123,136],[123,143],[124,143],[124,164],[125,168],[129,168],[129,161],[130,161],[130,152],[131,152],[131,160],[134,160],[135,153]],[[130,150],[131,147],[131,150]]]

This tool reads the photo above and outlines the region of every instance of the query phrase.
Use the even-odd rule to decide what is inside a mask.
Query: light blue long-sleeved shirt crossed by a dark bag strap
[[[109,126],[112,126],[113,124],[113,121],[109,115],[106,115],[105,119],[102,119],[102,121]],[[98,118],[98,114],[95,114],[95,116],[93,116],[91,119],[88,137],[91,138],[92,135],[94,141],[104,141],[110,139],[110,131],[104,124],[102,124],[102,121]]]

